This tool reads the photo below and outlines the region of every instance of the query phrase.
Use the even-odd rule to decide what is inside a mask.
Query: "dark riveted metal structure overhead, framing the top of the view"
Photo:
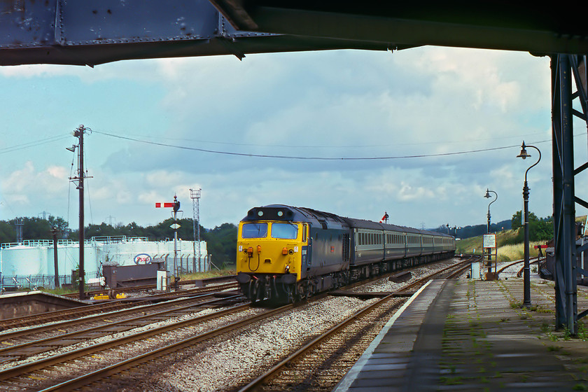
[[[421,45],[588,52],[583,13],[516,1],[0,1],[0,65]]]

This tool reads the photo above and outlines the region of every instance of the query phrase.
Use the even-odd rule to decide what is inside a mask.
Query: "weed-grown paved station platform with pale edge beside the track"
[[[588,391],[588,342],[554,331],[553,287],[533,277],[525,309],[522,279],[431,281],[333,392]]]

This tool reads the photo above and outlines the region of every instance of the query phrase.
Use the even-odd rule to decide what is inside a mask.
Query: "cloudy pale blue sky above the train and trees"
[[[522,209],[538,158],[517,158],[522,141],[542,154],[529,209],[550,216],[549,78],[548,57],[432,46],[0,66],[0,220],[52,215],[78,228],[66,147],[79,125],[91,130],[86,225],[155,225],[171,217],[155,202],[174,195],[192,218],[190,188],[202,189],[204,228],[266,204],[485,225],[486,189],[496,223]]]

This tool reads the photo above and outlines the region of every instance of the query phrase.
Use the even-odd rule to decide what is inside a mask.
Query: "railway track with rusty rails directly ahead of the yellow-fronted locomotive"
[[[442,273],[447,274],[448,271],[449,268],[443,269],[435,273],[435,276]],[[415,283],[412,283],[411,286],[414,288]],[[411,289],[408,288],[408,290]],[[407,288],[403,288],[403,290],[407,290]],[[321,300],[327,295],[327,293],[324,293],[318,297],[313,297],[309,302]],[[396,301],[401,302],[398,298],[396,298]],[[114,390],[129,383],[130,373],[128,371],[130,369],[133,369],[133,372],[147,372],[148,375],[151,369],[160,369],[165,366],[162,363],[165,363],[166,360],[169,361],[170,354],[177,356],[179,351],[187,347],[197,350],[195,345],[201,342],[214,337],[223,339],[223,336],[234,330],[242,330],[252,323],[259,323],[266,318],[292,311],[297,306],[300,306],[300,304],[290,304],[277,309],[255,309],[255,314],[248,316],[235,316],[239,312],[246,311],[249,307],[248,304],[224,309],[223,311],[215,311],[197,318],[174,322],[162,327],[149,328],[127,337],[110,339],[106,342],[91,344],[66,353],[57,353],[47,358],[22,363],[2,370],[0,380],[3,380],[3,384],[18,386],[23,391],[71,391],[73,388],[83,388],[83,386],[87,386],[85,388],[92,391],[105,391],[109,390],[109,388]],[[189,328],[193,330],[200,323],[213,319],[220,320],[223,316],[231,315],[233,318],[237,317],[238,319],[225,322],[216,328],[207,328],[206,331],[201,333],[190,332]],[[151,337],[159,337],[164,333],[176,331],[180,328],[188,329],[188,332],[180,334],[181,338],[171,339],[173,342],[155,344],[151,349],[142,348],[139,350],[140,353],[135,356],[123,355],[123,353],[132,353],[134,351],[134,349],[125,349],[133,342],[146,342]],[[124,358],[119,359],[118,356],[121,358],[124,356]],[[95,358],[110,359],[95,360]],[[137,370],[139,366],[141,369]],[[73,368],[76,370],[73,371]]]

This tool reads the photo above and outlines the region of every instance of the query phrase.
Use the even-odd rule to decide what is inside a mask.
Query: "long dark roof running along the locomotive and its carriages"
[[[265,214],[259,215],[263,211]],[[278,215],[281,212],[281,215]],[[283,221],[298,221],[307,222],[314,221],[335,221],[337,223],[344,223],[350,228],[364,228],[373,230],[391,230],[410,232],[421,235],[435,235],[437,237],[451,237],[440,232],[433,232],[430,230],[419,230],[415,228],[407,228],[405,226],[390,225],[388,223],[378,223],[374,221],[366,221],[364,219],[345,218],[330,212],[318,211],[316,209],[309,209],[307,207],[292,207],[285,204],[269,204],[262,207],[254,207],[248,211],[248,214],[243,221],[260,221],[260,220],[283,220]]]

